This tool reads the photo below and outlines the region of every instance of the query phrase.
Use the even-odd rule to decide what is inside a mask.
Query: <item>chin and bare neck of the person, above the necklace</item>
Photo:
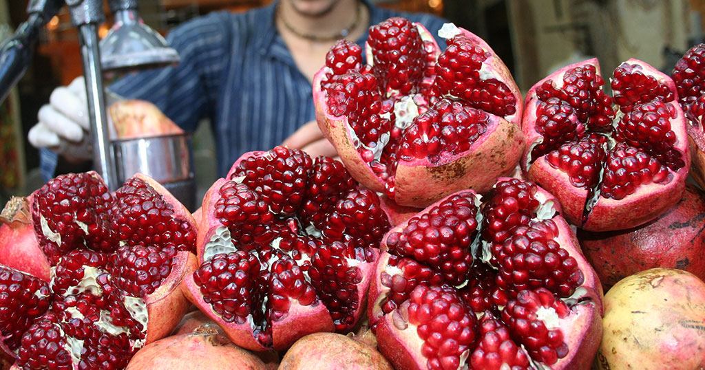
[[[277,27],[280,32],[286,32],[282,20],[297,33],[329,37],[350,27],[355,22],[359,0],[331,1],[330,5],[309,6],[295,3],[295,0],[281,0],[278,6]],[[353,30],[350,30],[351,32]]]

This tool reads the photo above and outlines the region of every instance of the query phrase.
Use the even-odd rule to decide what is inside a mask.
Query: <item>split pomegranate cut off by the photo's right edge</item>
[[[678,90],[678,101],[687,118],[688,140],[692,155],[690,175],[705,187],[705,44],[690,48],[680,60],[670,77]]]

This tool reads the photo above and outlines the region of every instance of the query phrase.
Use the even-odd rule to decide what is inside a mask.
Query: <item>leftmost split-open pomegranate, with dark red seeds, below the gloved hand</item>
[[[122,369],[185,314],[179,286],[197,231],[159,183],[137,174],[113,194],[97,173],[71,173],[20,203],[35,238],[14,255],[42,262],[0,265],[0,347],[16,367]]]

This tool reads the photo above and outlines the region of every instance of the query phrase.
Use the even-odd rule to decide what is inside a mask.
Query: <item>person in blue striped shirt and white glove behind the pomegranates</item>
[[[364,46],[369,27],[393,16],[421,23],[445,45],[437,34],[446,21],[430,14],[392,11],[369,0],[277,0],[179,25],[166,37],[180,54],[178,66],[127,75],[109,91],[152,101],[188,132],[209,118],[219,176],[240,154],[277,144],[335,156],[314,121],[314,74],[338,39]],[[45,179],[90,168],[90,153],[78,145],[89,128],[83,90],[81,78],[58,87],[37,113],[29,140],[40,149]]]

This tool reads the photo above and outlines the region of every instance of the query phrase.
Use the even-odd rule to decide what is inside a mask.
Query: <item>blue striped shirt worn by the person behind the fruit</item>
[[[443,19],[364,3],[370,25],[403,16],[422,23],[445,47],[437,35]],[[276,31],[275,7],[276,2],[244,13],[219,11],[183,23],[166,37],[180,54],[178,66],[128,75],[110,89],[152,101],[189,132],[209,118],[218,175],[224,176],[244,152],[271,149],[315,119],[311,83]],[[357,43],[364,45],[366,39],[367,32]],[[55,168],[56,154],[42,150],[45,178],[51,178]]]

